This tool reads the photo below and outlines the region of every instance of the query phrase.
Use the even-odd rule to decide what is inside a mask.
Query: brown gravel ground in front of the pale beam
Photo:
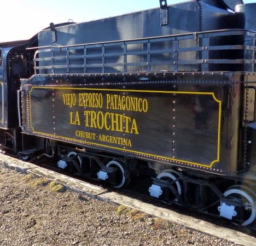
[[[237,245],[0,165],[0,245]]]

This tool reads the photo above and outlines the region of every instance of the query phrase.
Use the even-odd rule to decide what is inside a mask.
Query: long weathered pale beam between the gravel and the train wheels
[[[67,189],[78,192],[79,194],[88,195],[110,203],[123,204],[127,207],[141,210],[142,212],[167,219],[179,225],[187,226],[191,229],[222,239],[231,240],[237,244],[254,245],[255,243],[256,233],[253,227],[240,227],[238,225],[228,224],[224,220],[219,220],[218,218],[216,219],[190,209],[161,203],[158,200],[148,197],[146,194],[141,194],[131,189],[136,183],[136,179],[133,179],[133,183],[127,186],[126,189],[115,190],[102,186],[95,181],[88,183],[88,181],[78,179],[77,177],[61,174],[53,167],[46,168],[46,165],[38,166],[2,154],[0,165],[21,173],[47,177],[50,180],[55,180],[65,185]]]

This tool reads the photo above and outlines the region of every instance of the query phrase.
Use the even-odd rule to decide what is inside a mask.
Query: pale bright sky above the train
[[[167,0],[177,2],[184,0]],[[156,7],[158,0],[2,0],[0,42],[29,39],[50,22],[82,22]]]

